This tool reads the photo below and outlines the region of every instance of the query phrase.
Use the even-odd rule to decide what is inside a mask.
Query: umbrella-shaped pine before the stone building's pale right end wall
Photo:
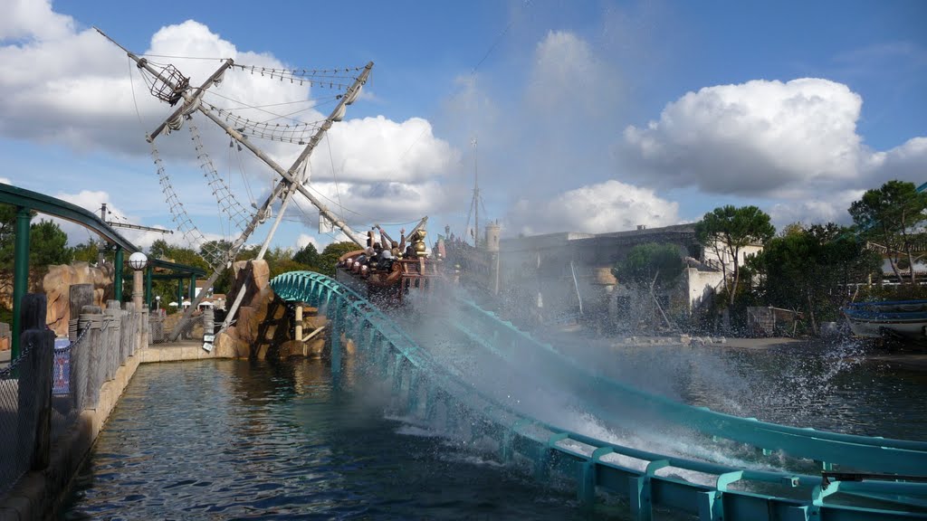
[[[724,276],[724,287],[734,303],[737,286],[740,283],[741,249],[753,244],[763,244],[776,234],[776,228],[769,222],[769,216],[755,206],[735,208],[731,205],[716,208],[705,213],[701,222],[695,224],[695,236],[706,250],[713,250]],[[728,277],[728,259],[732,273]]]

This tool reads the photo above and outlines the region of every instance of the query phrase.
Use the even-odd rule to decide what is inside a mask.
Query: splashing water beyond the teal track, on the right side
[[[599,373],[722,413],[927,441],[927,401],[919,398],[927,390],[927,372],[880,359],[874,355],[884,351],[859,341],[761,349],[599,346],[570,352]]]

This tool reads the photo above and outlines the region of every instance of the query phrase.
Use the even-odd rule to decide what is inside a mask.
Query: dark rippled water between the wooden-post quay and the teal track
[[[139,367],[66,519],[580,519],[570,489],[384,413],[327,364]],[[597,507],[595,518],[625,510]]]

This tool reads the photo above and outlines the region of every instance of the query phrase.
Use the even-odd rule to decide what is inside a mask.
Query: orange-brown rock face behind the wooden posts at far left
[[[100,267],[91,266],[86,262],[48,267],[48,273],[42,280],[42,289],[48,302],[45,324],[55,331],[57,337],[68,336],[68,321],[71,318],[70,286],[94,285],[94,305],[106,307],[107,299],[111,299],[113,294],[113,273],[115,269],[108,262]]]

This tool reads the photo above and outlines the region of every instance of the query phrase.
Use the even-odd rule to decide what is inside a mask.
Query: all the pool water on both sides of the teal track
[[[570,404],[575,382],[544,388],[542,377],[518,373],[485,351],[432,340],[423,345],[436,356],[445,349],[446,362],[477,376],[480,389],[557,425],[648,450],[757,463],[750,459],[756,459],[752,452],[703,447],[673,433],[661,438],[617,432]],[[927,374],[870,360],[859,344],[730,349],[616,348],[576,338],[554,343],[590,370],[721,412],[886,438],[924,440],[927,432],[927,402],[917,399],[927,388]],[[627,505],[620,502],[583,513],[569,485],[536,484],[462,441],[391,416],[384,398],[388,389],[370,381],[350,357],[345,362],[339,385],[333,384],[327,363],[318,360],[140,367],[78,478],[65,517],[627,515]]]

